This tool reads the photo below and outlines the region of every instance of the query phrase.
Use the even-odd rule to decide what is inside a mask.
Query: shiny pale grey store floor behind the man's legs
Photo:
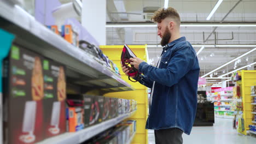
[[[240,136],[232,129],[232,119],[215,118],[213,127],[193,127],[183,134],[183,144],[255,144],[256,136]],[[155,143],[154,131],[148,131],[149,144]]]

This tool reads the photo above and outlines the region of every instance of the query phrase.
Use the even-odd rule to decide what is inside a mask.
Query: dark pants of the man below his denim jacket
[[[155,144],[182,144],[182,134],[178,128],[155,130]]]

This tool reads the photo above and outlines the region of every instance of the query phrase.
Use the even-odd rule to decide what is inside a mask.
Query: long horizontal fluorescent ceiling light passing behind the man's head
[[[106,27],[156,27],[154,23],[147,25],[131,25],[131,24],[107,24]],[[181,27],[256,27],[256,24],[181,24]]]

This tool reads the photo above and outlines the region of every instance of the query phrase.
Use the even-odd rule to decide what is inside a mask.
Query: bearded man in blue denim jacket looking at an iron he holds
[[[154,129],[155,143],[183,143],[182,134],[190,134],[197,106],[199,63],[191,44],[181,37],[181,19],[173,8],[161,8],[152,17],[158,23],[158,35],[164,46],[156,65],[130,58],[143,75],[133,77],[152,88],[146,129]],[[127,75],[129,70],[123,67]]]

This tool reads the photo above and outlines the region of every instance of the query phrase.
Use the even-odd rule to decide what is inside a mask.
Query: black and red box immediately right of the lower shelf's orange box
[[[84,95],[84,127],[95,124],[95,100],[92,95]]]

